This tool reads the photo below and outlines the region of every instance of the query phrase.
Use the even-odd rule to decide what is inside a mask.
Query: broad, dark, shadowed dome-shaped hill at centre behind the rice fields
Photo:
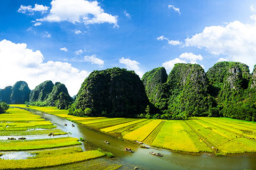
[[[92,115],[134,117],[145,112],[148,99],[143,83],[134,71],[93,71],[79,90],[75,107],[91,108]]]

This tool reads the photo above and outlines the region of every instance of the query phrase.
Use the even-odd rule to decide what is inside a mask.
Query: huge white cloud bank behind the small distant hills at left
[[[44,62],[43,54],[27,48],[27,44],[0,41],[0,88],[12,86],[16,81],[26,81],[30,89],[46,80],[62,82],[71,96],[76,95],[87,71],[79,71],[67,62]]]

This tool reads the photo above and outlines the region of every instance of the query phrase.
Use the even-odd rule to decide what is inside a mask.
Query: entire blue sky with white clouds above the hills
[[[36,5],[35,5],[36,4]],[[256,64],[256,1],[3,1],[0,88],[65,83],[71,96],[93,70],[143,73],[175,63]]]

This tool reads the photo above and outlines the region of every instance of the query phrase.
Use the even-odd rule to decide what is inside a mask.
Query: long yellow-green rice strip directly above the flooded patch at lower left
[[[19,140],[1,140],[0,151],[46,149],[73,145],[81,145],[81,142],[79,142],[77,138],[68,137],[56,139],[27,140],[26,142]]]

